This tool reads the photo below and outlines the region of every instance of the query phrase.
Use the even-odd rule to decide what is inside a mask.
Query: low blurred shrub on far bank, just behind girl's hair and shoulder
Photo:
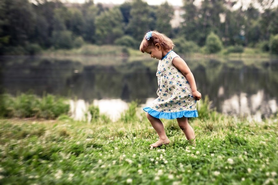
[[[175,51],[177,53],[193,53],[193,52],[198,52],[199,46],[193,42],[193,41],[186,41],[185,38],[180,37],[180,38],[175,38],[173,39],[173,42],[175,44]]]

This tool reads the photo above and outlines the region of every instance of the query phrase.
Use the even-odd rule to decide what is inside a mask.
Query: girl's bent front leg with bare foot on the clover
[[[151,144],[151,147],[158,147],[160,145],[167,145],[170,143],[170,140],[166,136],[164,131],[163,123],[160,119],[151,116],[149,113],[146,113],[148,120],[151,122],[152,127],[154,127],[155,131],[159,136],[159,140],[156,143]]]

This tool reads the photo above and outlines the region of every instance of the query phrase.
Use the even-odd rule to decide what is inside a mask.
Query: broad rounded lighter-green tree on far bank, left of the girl
[[[99,44],[113,44],[123,34],[123,17],[120,9],[114,8],[102,12],[96,17],[96,37]]]

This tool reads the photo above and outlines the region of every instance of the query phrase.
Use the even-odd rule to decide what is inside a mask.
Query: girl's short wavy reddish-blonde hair
[[[172,50],[175,46],[170,38],[158,31],[152,31],[152,37],[150,37],[149,40],[146,39],[146,35],[147,33],[140,44],[140,51],[142,53],[144,53],[148,47],[154,47],[156,44],[160,44],[164,50]]]

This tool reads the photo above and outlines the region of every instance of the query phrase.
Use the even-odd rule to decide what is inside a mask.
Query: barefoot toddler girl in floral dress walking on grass
[[[198,117],[196,105],[201,93],[197,91],[194,76],[186,62],[172,51],[173,47],[172,40],[157,31],[146,33],[140,45],[141,52],[159,60],[156,72],[158,98],[149,107],[143,108],[159,136],[159,140],[150,147],[170,143],[160,118],[177,119],[186,138],[190,141],[195,139],[187,118]]]

